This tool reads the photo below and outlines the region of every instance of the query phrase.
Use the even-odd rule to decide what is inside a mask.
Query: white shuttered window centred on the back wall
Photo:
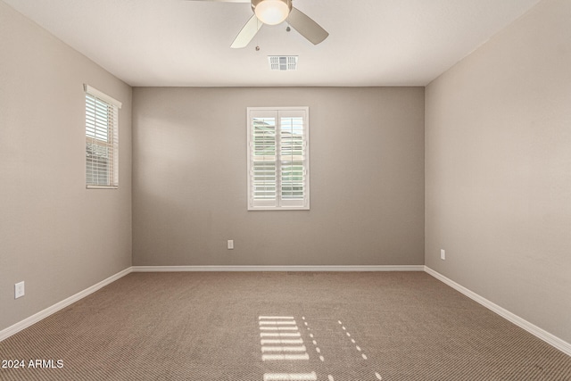
[[[248,210],[310,209],[309,108],[248,108]]]

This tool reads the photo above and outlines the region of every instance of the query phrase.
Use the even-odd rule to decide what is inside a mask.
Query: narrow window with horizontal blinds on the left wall
[[[119,186],[119,109],[121,103],[84,85],[86,92],[86,185]]]

